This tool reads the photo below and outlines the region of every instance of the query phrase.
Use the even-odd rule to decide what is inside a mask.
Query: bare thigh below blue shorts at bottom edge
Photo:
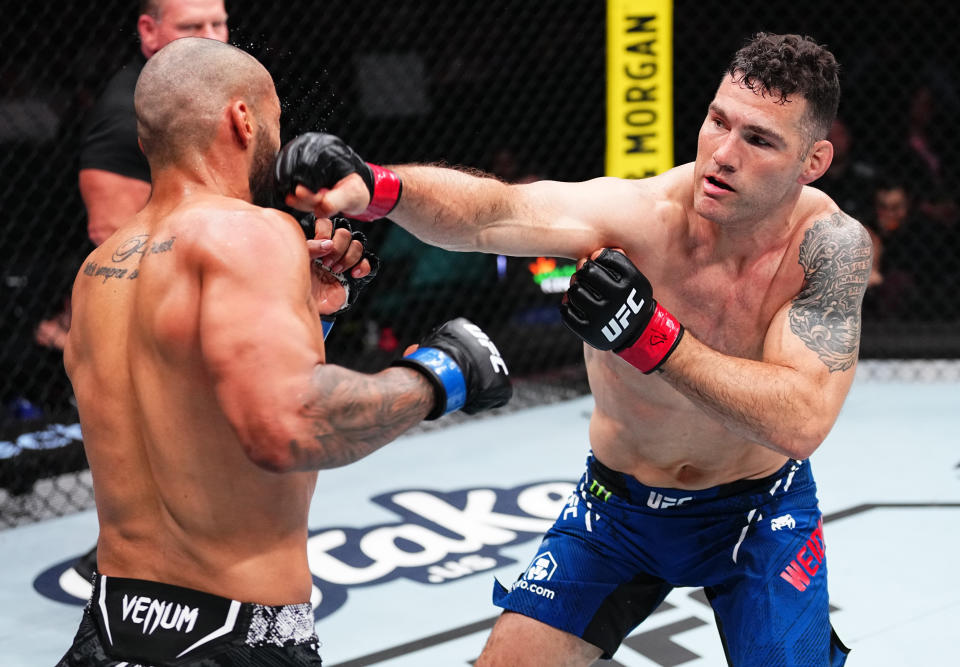
[[[505,611],[497,619],[476,667],[581,667],[600,649],[579,637],[523,614]]]

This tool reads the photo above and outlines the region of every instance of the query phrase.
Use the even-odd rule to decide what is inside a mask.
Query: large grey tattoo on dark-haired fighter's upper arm
[[[800,244],[804,285],[790,306],[790,330],[831,373],[856,362],[871,253],[866,231],[843,213],[815,222]]]

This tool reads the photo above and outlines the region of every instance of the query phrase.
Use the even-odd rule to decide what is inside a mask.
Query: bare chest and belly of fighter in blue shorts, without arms
[[[674,201],[692,202],[692,172],[692,164],[680,167],[657,186]],[[707,225],[691,222],[689,205],[661,206],[658,213],[662,238],[646,237],[638,250],[629,233],[621,241],[657,300],[706,346],[760,361],[775,317],[803,287],[798,258],[804,232],[838,210],[807,188],[787,233],[766,247],[730,255]],[[650,486],[695,489],[763,477],[785,462],[785,454],[731,431],[669,384],[639,374],[616,355],[584,350],[595,399],[591,446],[611,468]]]

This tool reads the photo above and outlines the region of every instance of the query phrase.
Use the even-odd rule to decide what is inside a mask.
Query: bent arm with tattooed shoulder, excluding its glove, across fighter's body
[[[763,358],[750,361],[681,340],[663,377],[731,431],[803,459],[836,421],[853,381],[871,243],[836,213],[805,233],[801,292],[774,317]]]

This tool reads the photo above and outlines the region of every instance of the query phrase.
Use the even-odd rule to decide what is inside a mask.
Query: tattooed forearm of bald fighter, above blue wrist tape
[[[333,468],[363,458],[419,423],[433,407],[433,388],[415,372],[380,375],[326,365],[317,369],[317,397],[301,406],[312,442],[292,440],[298,468]]]

